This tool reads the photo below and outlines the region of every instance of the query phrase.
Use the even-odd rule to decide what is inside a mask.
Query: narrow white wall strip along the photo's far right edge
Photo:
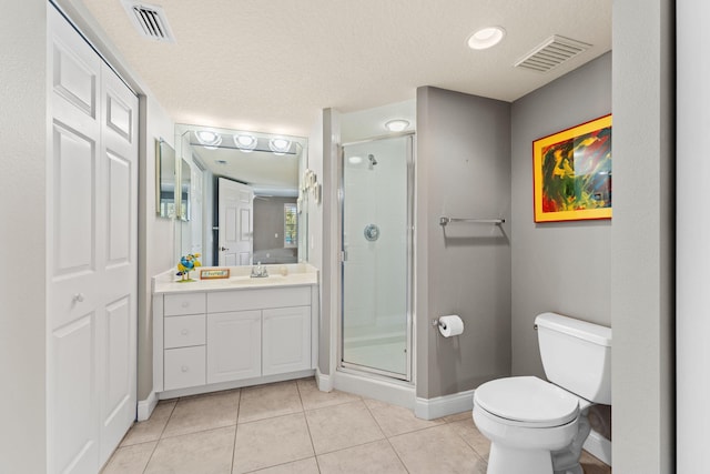
[[[710,3],[677,3],[677,472],[707,463],[710,412],[710,213],[704,212],[710,160],[698,145],[710,130]],[[702,145],[700,145],[702,147]]]

